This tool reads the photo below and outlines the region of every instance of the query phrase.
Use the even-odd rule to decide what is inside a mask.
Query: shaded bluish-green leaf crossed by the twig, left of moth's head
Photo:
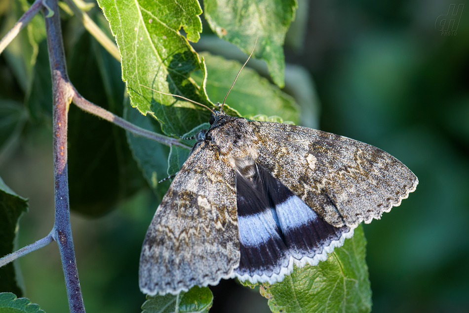
[[[127,103],[128,102],[127,100]],[[161,127],[156,125],[158,123],[155,119],[152,121],[151,117],[143,116],[140,112],[131,108],[130,105],[127,107],[124,104],[124,118],[141,128],[161,133]],[[126,133],[132,156],[134,160],[137,161],[148,184],[157,194],[160,194],[159,191],[162,191],[162,193],[166,192],[165,188],[159,190],[158,181],[166,178],[167,175],[169,147],[155,140],[135,136],[130,132]],[[162,196],[162,194],[160,195]]]

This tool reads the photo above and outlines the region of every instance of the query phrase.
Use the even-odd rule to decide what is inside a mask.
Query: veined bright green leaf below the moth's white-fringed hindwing
[[[263,284],[261,294],[274,313],[371,311],[371,288],[365,262],[363,227],[344,245],[335,248],[317,266],[296,268],[273,285]]]

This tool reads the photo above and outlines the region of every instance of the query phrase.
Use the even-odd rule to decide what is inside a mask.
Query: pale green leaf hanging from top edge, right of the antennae
[[[285,57],[283,43],[295,18],[296,0],[227,1],[204,0],[204,14],[218,37],[251,53],[257,35],[254,56],[267,63],[274,83],[284,86]]]

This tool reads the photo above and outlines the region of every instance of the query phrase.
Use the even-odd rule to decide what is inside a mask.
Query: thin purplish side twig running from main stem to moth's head
[[[99,116],[100,118],[103,118],[106,121],[109,121],[137,136],[142,136],[142,137],[146,137],[149,139],[153,139],[157,142],[166,144],[168,146],[175,145],[175,146],[179,146],[182,148],[191,149],[191,147],[185,145],[184,143],[179,142],[178,139],[147,131],[146,129],[138,127],[124,120],[123,118],[118,117],[116,114],[111,113],[108,110],[103,109],[102,107],[97,106],[96,104],[86,100],[76,90],[75,90],[75,95],[73,97],[73,103],[75,103],[83,111]]]

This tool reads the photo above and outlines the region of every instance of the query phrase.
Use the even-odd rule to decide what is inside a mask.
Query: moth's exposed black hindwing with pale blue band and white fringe
[[[236,176],[241,259],[235,275],[251,283],[283,280],[293,264],[303,267],[327,259],[353,235],[334,227],[260,164],[251,179]]]

